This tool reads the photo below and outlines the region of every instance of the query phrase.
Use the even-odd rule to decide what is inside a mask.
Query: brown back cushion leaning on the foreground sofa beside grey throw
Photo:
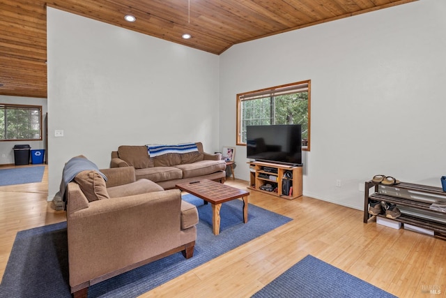
[[[85,170],[79,172],[75,177],[75,182],[79,184],[82,193],[89,202],[110,198],[104,178],[96,171]]]

